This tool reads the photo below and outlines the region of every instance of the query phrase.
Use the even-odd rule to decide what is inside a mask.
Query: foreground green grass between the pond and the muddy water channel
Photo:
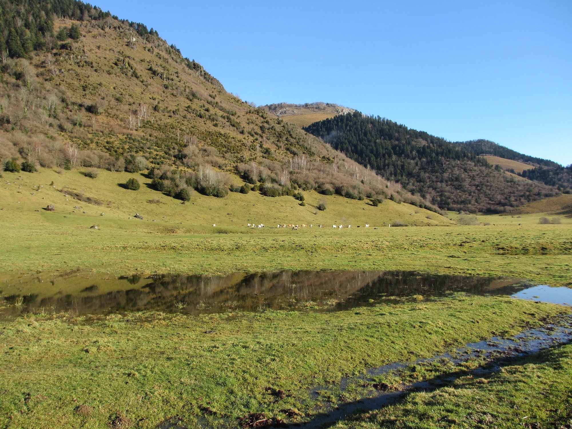
[[[460,293],[325,313],[35,315],[0,329],[0,425],[152,428],[180,416],[197,427],[255,412],[311,420],[313,386],[511,335],[563,311]]]

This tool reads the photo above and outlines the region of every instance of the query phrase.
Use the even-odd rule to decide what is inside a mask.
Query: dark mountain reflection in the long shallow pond
[[[141,279],[125,278],[136,285]],[[160,276],[143,287],[98,293],[97,284],[74,295],[5,296],[5,315],[22,312],[181,311],[208,313],[228,310],[345,309],[375,303],[388,296],[439,296],[447,292],[513,293],[517,280],[491,277],[420,275],[389,271],[281,271],[229,276]]]

